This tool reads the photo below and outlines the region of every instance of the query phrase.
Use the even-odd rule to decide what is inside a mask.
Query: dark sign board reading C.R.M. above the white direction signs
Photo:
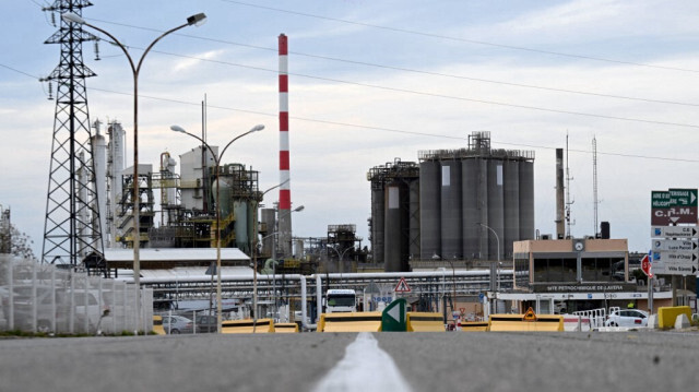
[[[651,225],[697,223],[697,189],[651,191]]]

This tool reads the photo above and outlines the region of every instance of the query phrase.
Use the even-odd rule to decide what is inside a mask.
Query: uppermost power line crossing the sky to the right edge
[[[273,8],[273,7],[260,5],[260,4],[251,4],[251,3],[247,3],[247,2],[242,2],[242,1],[234,1],[234,0],[221,0],[221,1],[227,2],[227,3],[233,3],[233,4],[238,4],[238,5],[245,5],[245,7],[262,9],[262,10],[283,12],[283,13],[293,14],[293,15],[320,19],[320,20],[332,21],[332,22],[337,22],[337,23],[352,24],[352,25],[356,25],[356,26],[364,26],[364,27],[384,29],[384,31],[395,32],[395,33],[418,35],[418,36],[423,36],[423,37],[431,37],[431,38],[447,39],[447,40],[460,41],[460,43],[466,43],[466,44],[491,46],[491,47],[496,47],[496,48],[503,48],[503,49],[511,49],[511,50],[530,51],[530,52],[535,52],[535,54],[541,54],[541,55],[552,55],[552,56],[576,58],[576,59],[611,62],[611,63],[617,63],[617,64],[627,64],[627,66],[636,66],[636,67],[654,68],[654,69],[661,69],[661,70],[699,73],[699,70],[675,68],[675,67],[666,67],[666,66],[653,66],[653,64],[648,64],[648,63],[642,63],[642,62],[632,62],[632,61],[624,61],[624,60],[605,59],[605,58],[601,58],[601,57],[565,54],[565,52],[559,52],[559,51],[553,51],[553,50],[533,49],[533,48],[526,48],[526,47],[514,46],[514,45],[495,44],[495,43],[488,43],[488,41],[483,41],[483,40],[452,37],[452,36],[441,35],[441,34],[418,32],[418,31],[407,29],[407,28],[389,27],[389,26],[382,26],[382,25],[365,23],[365,22],[348,21],[348,20],[339,19],[339,17],[330,17],[330,16],[317,15],[317,14],[311,14],[311,13],[305,13],[305,12],[284,10],[284,9]]]

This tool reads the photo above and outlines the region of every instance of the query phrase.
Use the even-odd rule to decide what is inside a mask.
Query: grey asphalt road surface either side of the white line
[[[697,333],[374,337],[413,391],[680,391],[699,385]],[[355,333],[7,338],[0,340],[0,391],[312,391],[355,340]],[[366,367],[362,372],[356,379],[369,380],[362,392],[376,390],[369,376],[382,375],[368,375]]]

